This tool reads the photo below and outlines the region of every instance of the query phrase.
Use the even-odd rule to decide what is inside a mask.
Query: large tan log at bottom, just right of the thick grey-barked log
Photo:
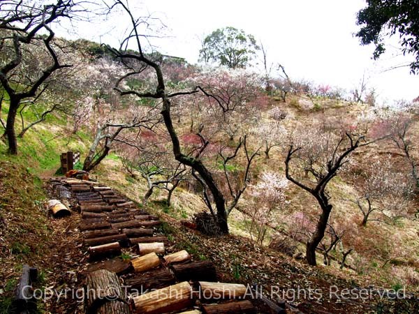
[[[192,306],[192,287],[186,281],[133,298],[136,313],[157,314]]]

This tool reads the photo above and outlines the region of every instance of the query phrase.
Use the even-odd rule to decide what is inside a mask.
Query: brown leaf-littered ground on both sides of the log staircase
[[[1,163],[0,169],[1,205],[7,207],[1,212],[0,313],[10,310],[24,263],[40,271],[35,285],[43,291],[38,313],[82,313],[78,293],[88,261],[78,230],[80,215],[47,216],[42,204],[47,184],[8,163]],[[219,281],[257,285],[273,301],[286,301],[288,313],[419,313],[417,299],[392,299],[391,295],[380,299],[375,294],[359,299],[357,289],[363,287],[359,278],[351,280],[345,272],[333,274],[332,269],[309,267],[237,235],[207,237],[184,227],[158,206],[159,202],[153,202],[147,210],[159,214],[164,222],[161,232],[171,246],[186,249],[197,260],[212,260]],[[63,291],[66,294],[55,293]]]

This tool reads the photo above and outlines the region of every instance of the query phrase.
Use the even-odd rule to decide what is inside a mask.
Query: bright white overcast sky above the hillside
[[[281,63],[293,79],[318,84],[353,88],[362,75],[368,86],[376,88],[381,101],[419,96],[419,75],[410,75],[409,67],[385,71],[406,62],[388,52],[381,60],[372,60],[373,46],[362,47],[353,36],[358,30],[355,16],[365,6],[361,0],[142,0],[138,15],[147,10],[160,17],[169,38],[153,40],[163,54],[184,57],[196,63],[200,40],[217,28],[236,27],[255,36],[267,48],[270,62]],[[111,27],[84,28],[79,36],[117,45],[118,35],[103,35],[124,26],[127,19],[113,19]],[[389,49],[391,50],[391,49]],[[402,59],[400,59],[402,58]],[[408,60],[408,59],[407,59]]]

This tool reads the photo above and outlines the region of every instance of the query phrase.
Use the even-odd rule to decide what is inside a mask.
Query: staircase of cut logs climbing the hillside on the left
[[[260,312],[258,293],[250,287],[217,282],[212,262],[176,251],[160,234],[158,216],[112,188],[69,178],[50,184],[57,198],[66,198],[64,204],[81,216],[79,230],[89,255],[85,313],[286,313],[267,299],[269,312]]]

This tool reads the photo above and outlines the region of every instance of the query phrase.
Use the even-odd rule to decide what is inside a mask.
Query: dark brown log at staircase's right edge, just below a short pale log
[[[178,281],[216,281],[215,267],[209,260],[174,264],[170,269]]]

